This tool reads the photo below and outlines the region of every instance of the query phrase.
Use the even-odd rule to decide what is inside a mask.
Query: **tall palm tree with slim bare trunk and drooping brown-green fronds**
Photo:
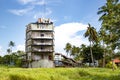
[[[92,60],[92,63],[94,63],[93,53],[92,53],[92,44],[94,44],[95,42],[96,43],[98,42],[96,29],[94,27],[91,27],[90,24],[88,24],[87,31],[85,32],[84,36],[88,37],[88,40],[90,42],[91,60]]]

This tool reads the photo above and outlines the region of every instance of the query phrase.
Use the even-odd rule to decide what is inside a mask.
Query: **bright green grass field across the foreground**
[[[0,80],[120,80],[120,69],[0,67]]]

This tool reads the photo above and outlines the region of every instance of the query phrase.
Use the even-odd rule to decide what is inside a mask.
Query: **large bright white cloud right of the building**
[[[55,52],[65,53],[64,47],[67,42],[75,46],[87,44],[88,41],[84,39],[83,32],[87,29],[87,25],[73,22],[65,23],[55,27]],[[79,33],[79,34],[78,34]]]

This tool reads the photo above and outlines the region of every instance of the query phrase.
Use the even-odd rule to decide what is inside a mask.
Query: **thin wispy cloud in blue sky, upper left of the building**
[[[12,9],[12,10],[9,10],[9,12],[11,12],[12,14],[18,15],[18,16],[23,16],[27,14],[28,12],[32,11],[33,9],[34,7],[27,7],[24,9]]]

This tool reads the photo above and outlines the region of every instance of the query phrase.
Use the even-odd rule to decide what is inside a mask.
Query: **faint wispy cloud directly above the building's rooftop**
[[[47,17],[52,14],[52,10],[49,8],[46,8],[45,12],[36,12],[34,14],[34,19],[38,19],[39,17]]]

